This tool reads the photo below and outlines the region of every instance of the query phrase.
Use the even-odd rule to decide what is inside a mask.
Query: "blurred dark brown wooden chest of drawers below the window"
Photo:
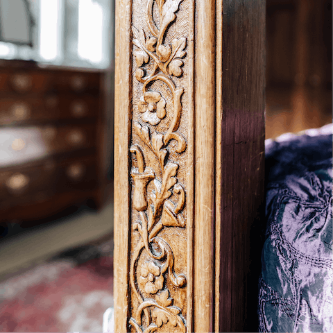
[[[0,223],[103,200],[103,71],[0,67]]]

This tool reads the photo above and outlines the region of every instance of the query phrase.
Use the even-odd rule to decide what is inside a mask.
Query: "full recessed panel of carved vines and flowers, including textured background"
[[[145,2],[133,1],[129,323],[186,332],[189,1]]]

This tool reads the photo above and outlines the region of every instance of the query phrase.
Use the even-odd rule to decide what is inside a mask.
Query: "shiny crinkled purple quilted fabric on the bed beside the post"
[[[332,332],[332,134],[317,134],[266,144],[259,332]]]

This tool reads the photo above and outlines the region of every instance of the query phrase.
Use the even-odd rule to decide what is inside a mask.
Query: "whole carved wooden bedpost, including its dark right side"
[[[256,330],[264,12],[116,1],[115,332]]]

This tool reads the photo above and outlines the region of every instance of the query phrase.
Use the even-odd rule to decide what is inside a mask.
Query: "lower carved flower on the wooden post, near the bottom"
[[[144,291],[146,293],[157,293],[157,291],[163,289],[164,284],[161,268],[154,262],[145,263],[141,267],[139,281],[144,284]]]

